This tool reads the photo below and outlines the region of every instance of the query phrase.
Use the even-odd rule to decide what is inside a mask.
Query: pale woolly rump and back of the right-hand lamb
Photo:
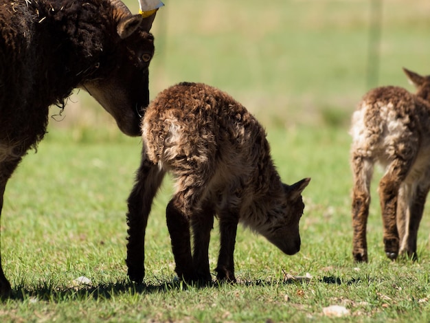
[[[352,150],[386,164],[430,149],[430,104],[401,87],[378,87],[363,96],[352,115]]]

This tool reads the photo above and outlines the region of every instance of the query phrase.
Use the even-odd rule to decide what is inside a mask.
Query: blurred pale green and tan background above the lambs
[[[126,0],[133,12],[138,1]],[[428,0],[164,0],[152,27],[151,98],[183,80],[229,92],[270,126],[346,126],[377,85],[412,89],[401,67],[430,74]],[[52,108],[56,114],[57,108]],[[60,122],[79,139],[119,132],[84,91]]]

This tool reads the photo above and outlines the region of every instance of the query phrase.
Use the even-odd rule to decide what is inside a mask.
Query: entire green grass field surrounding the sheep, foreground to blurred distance
[[[0,305],[1,322],[332,322],[324,315],[330,305],[350,311],[340,321],[429,322],[429,211],[419,260],[389,261],[375,181],[370,262],[354,263],[348,164],[349,118],[363,93],[383,84],[411,89],[402,66],[430,74],[428,1],[383,2],[380,69],[370,83],[369,1],[165,3],[154,25],[152,96],[181,80],[207,82],[258,116],[284,181],[312,177],[301,252],[285,256],[240,228],[238,284],[182,285],[164,217],[167,180],[148,223],[145,284],[128,282],[125,201],[141,142],[121,135],[81,92],[8,184],[1,252],[13,297]],[[137,1],[130,5],[137,12]],[[217,250],[215,227],[212,269]],[[286,274],[312,278],[292,282]],[[91,282],[73,282],[80,276]]]

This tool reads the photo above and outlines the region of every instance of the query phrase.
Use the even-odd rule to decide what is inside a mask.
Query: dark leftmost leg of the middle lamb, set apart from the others
[[[165,172],[152,162],[142,157],[142,164],[137,170],[136,182],[128,197],[128,243],[126,264],[128,277],[135,282],[142,282],[145,276],[144,241],[146,224]]]

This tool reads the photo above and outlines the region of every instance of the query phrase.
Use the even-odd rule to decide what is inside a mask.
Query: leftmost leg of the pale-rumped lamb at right
[[[352,153],[352,255],[356,261],[367,262],[367,218],[370,205],[370,181],[373,175],[373,161],[357,153]]]

